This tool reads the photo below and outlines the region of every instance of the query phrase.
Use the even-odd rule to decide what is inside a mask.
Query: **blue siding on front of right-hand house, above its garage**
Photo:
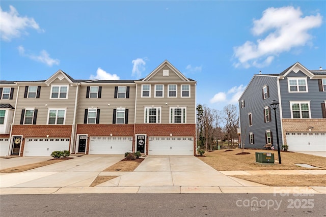
[[[307,77],[299,71],[290,72],[284,79],[280,80],[280,91],[282,100],[283,118],[291,118],[290,101],[310,101],[311,118],[322,118],[321,103],[326,100],[326,93],[319,91],[318,79],[307,77],[308,92],[289,92],[288,78]]]

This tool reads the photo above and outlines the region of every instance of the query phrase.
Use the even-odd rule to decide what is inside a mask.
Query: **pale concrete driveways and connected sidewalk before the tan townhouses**
[[[18,159],[25,161],[23,158]],[[116,155],[85,155],[21,173],[1,173],[0,194],[285,192],[326,194],[326,187],[268,187],[229,177],[236,174],[290,174],[289,172],[325,174],[326,170],[219,172],[194,156],[148,156],[133,172],[102,172],[123,158],[124,156]],[[13,163],[19,161],[6,160],[12,160]],[[98,175],[118,177],[96,187],[89,187]]]

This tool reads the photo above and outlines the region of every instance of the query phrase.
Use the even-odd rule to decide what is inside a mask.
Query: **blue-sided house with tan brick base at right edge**
[[[280,147],[292,151],[326,151],[326,70],[308,70],[295,63],[280,74],[254,75],[238,103],[241,141],[246,148],[277,149],[275,112]]]

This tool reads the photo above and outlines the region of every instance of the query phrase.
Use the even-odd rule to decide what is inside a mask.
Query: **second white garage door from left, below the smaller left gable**
[[[23,156],[51,156],[53,151],[69,150],[69,138],[26,138]]]

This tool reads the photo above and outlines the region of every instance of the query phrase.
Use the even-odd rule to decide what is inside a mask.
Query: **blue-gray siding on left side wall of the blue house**
[[[262,98],[261,91],[264,85],[268,85],[269,88],[269,97],[265,100]],[[241,108],[242,100],[244,100],[244,108]],[[241,140],[244,142],[245,148],[262,148],[266,143],[266,130],[270,130],[273,133],[274,146],[277,146],[275,113],[273,109],[270,109],[271,121],[264,122],[264,108],[269,106],[273,100],[278,100],[277,77],[255,75],[239,99]],[[279,140],[280,144],[283,144],[279,109],[276,111]],[[249,113],[252,113],[252,126],[249,126]],[[254,144],[250,144],[250,133],[254,135]]]

